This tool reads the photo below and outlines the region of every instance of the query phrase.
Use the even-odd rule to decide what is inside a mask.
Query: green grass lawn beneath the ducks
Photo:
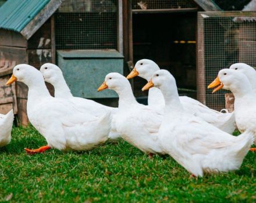
[[[126,142],[76,153],[23,148],[47,144],[33,127],[13,128],[0,150],[0,201],[10,202],[256,202],[256,154],[240,171],[190,178],[169,156],[148,160]]]

